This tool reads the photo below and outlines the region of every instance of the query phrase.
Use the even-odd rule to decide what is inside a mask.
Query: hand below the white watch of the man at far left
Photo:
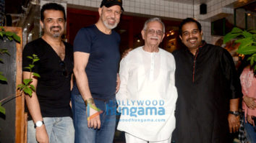
[[[35,139],[39,143],[49,143],[49,137],[46,132],[46,126],[44,124],[35,128]]]

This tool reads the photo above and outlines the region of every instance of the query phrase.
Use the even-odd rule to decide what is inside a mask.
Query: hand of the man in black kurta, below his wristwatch
[[[234,116],[233,114],[229,114],[228,116],[229,120],[229,132],[238,132],[240,128],[240,117]]]

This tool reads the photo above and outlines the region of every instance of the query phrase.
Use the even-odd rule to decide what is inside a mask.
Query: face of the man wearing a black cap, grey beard
[[[121,7],[114,5],[111,7],[103,6],[98,9],[100,19],[107,29],[114,29],[119,24],[121,17]]]

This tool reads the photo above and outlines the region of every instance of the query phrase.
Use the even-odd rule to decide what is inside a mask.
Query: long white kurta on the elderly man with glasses
[[[165,50],[145,52],[137,47],[129,52],[120,63],[117,129],[150,142],[170,138],[177,98],[174,72],[174,57]]]

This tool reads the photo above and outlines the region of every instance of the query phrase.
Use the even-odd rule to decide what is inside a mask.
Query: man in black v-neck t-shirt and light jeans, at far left
[[[28,43],[22,55],[23,78],[30,78],[25,67],[31,64],[27,56],[38,55],[31,83],[36,90],[25,96],[29,118],[27,142],[74,142],[74,126],[70,103],[70,80],[73,68],[72,46],[61,41],[66,15],[60,4],[48,3],[40,10],[43,36]]]

